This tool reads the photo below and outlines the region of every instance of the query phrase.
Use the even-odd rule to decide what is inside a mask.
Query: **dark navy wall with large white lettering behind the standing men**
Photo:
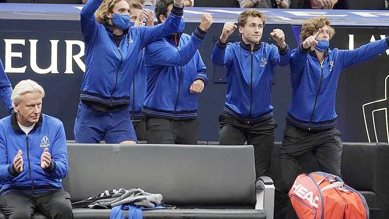
[[[186,23],[185,32],[190,33],[198,23]],[[269,33],[273,28],[282,28],[286,33],[288,44],[295,48],[296,38],[290,24],[266,24],[262,40],[270,41]],[[216,68],[210,60],[211,49],[218,39],[222,30],[222,23],[214,23],[200,48],[207,73],[210,79],[199,100],[199,137],[201,140],[218,139],[218,117],[222,113],[225,100],[225,84],[219,80],[224,76],[222,68]],[[386,35],[388,29],[384,27],[335,27],[336,34],[331,41],[331,48],[349,48],[349,35],[354,35],[354,45],[358,47],[370,42],[372,36],[380,39],[380,35]],[[239,40],[238,32],[230,40]],[[83,71],[73,60],[74,74],[65,74],[66,66],[66,41],[82,40],[78,20],[0,20],[0,58],[4,63],[5,40],[24,40],[25,45],[13,45],[12,52],[20,52],[22,58],[12,58],[12,67],[27,66],[25,73],[8,73],[13,84],[23,79],[38,81],[46,90],[43,111],[49,115],[60,118],[66,129],[68,139],[74,139],[73,125],[77,110],[79,88],[82,81]],[[3,40],[5,39],[5,40]],[[57,45],[58,74],[47,73],[37,74],[31,69],[30,53],[31,43],[37,42],[37,65],[40,68],[47,68],[51,64],[51,43],[49,40],[59,40]],[[73,55],[80,52],[77,45],[73,46]],[[68,54],[69,55],[69,54]],[[101,54],[104,56],[104,54]],[[373,60],[352,66],[343,71],[337,93],[337,110],[339,115],[338,129],[343,133],[344,141],[368,141],[365,126],[365,118],[362,105],[371,101],[385,99],[385,79],[388,73],[388,56],[382,54]],[[275,107],[275,119],[278,122],[276,129],[276,140],[282,139],[282,132],[285,126],[284,116],[290,103],[289,67],[276,67],[274,84],[272,87],[273,105]],[[381,104],[381,105],[380,105]],[[384,107],[382,107],[382,105]],[[386,115],[388,104],[386,101],[370,107],[368,128],[370,141],[388,141],[388,120]],[[374,113],[375,132],[371,111],[380,109]],[[4,107],[0,107],[0,115],[6,116]],[[370,119],[370,120],[369,120]],[[377,135],[378,139],[375,139]]]

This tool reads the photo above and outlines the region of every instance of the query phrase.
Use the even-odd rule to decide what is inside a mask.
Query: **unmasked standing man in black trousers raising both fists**
[[[219,117],[220,144],[254,145],[256,176],[269,174],[274,142],[271,84],[276,65],[287,65],[290,49],[285,34],[274,29],[270,36],[277,45],[261,42],[265,14],[256,9],[242,12],[238,26],[224,23],[222,35],[213,48],[212,61],[226,69],[227,94],[224,112]],[[228,42],[239,28],[240,42]]]

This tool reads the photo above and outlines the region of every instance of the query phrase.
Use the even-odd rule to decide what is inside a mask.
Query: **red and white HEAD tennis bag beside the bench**
[[[298,175],[289,198],[299,219],[369,219],[365,198],[328,173]]]

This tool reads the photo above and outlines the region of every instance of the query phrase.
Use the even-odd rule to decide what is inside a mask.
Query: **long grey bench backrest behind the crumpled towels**
[[[254,206],[253,146],[68,144],[72,201],[141,188],[177,206]]]

